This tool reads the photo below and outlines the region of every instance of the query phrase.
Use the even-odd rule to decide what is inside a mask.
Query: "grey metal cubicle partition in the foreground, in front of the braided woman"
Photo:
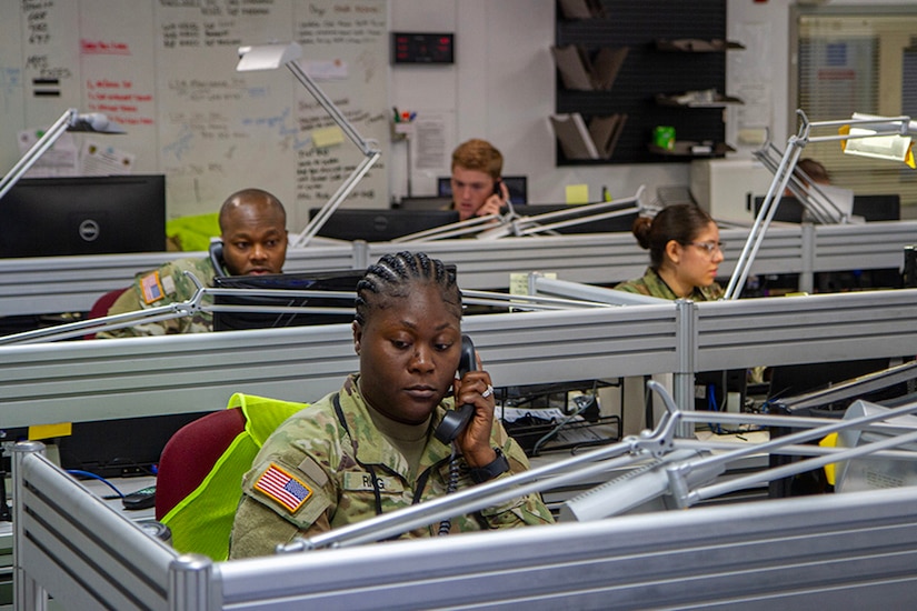
[[[14,454],[17,609],[44,609],[49,594],[188,611],[907,608],[917,587],[917,488],[215,564],[165,548],[26,445]]]

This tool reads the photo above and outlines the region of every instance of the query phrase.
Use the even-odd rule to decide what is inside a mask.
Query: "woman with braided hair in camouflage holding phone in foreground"
[[[271,554],[298,535],[528,469],[494,415],[489,373],[471,368],[456,379],[461,297],[453,272],[422,253],[386,254],[358,283],[356,303],[360,372],[265,442],[242,481],[230,559]],[[438,424],[456,403],[474,413],[455,441],[443,442]],[[531,493],[401,538],[552,521]]]

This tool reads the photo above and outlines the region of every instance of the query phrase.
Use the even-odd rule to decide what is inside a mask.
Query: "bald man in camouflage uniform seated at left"
[[[139,273],[133,284],[108,310],[108,314],[134,312],[189,300],[197,291],[197,286],[186,276],[186,271],[195,274],[203,287],[212,287],[218,273],[280,273],[287,257],[287,214],[276,197],[260,189],[232,193],[220,209],[219,222],[225,270],[216,270],[208,257],[179,259],[159,269]],[[212,298],[205,296],[201,306],[212,302]],[[97,337],[166,335],[212,330],[212,314],[198,310],[190,317],[101,331]]]

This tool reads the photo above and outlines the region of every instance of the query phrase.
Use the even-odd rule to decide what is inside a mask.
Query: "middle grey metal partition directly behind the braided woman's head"
[[[462,329],[500,385],[672,372],[688,410],[695,371],[914,354],[917,289],[469,315]],[[311,401],[357,369],[348,324],[6,345],[0,422],[217,410],[233,392]]]

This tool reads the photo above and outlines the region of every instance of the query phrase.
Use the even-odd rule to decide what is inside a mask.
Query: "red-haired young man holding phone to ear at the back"
[[[459,220],[499,214],[509,201],[509,189],[500,179],[504,156],[480,139],[462,142],[452,152],[452,210]]]

